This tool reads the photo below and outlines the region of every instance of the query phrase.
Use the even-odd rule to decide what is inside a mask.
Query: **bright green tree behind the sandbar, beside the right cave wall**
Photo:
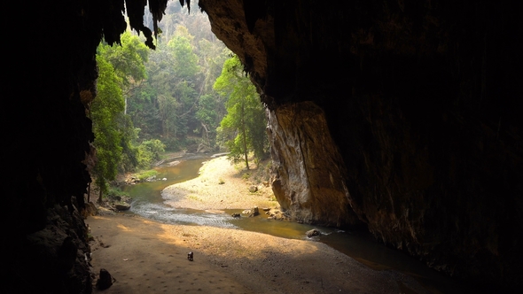
[[[225,137],[225,144],[230,150],[229,158],[233,162],[245,160],[246,169],[249,169],[249,151],[254,151],[254,158],[258,160],[267,153],[267,122],[258,93],[244,74],[238,56],[225,61],[214,88],[220,95],[227,97],[227,115],[218,130]]]

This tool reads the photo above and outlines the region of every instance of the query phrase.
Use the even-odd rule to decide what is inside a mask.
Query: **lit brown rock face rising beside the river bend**
[[[326,226],[361,223],[349,205],[347,172],[325,120],[311,102],[269,112],[272,188],[294,219]]]

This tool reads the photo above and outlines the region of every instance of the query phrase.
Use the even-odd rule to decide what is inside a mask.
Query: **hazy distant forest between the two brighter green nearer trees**
[[[193,142],[214,146],[225,107],[212,86],[229,50],[212,35],[205,15],[168,7],[157,49],[145,63],[146,79],[129,92],[128,113],[141,139],[159,138],[168,151]]]

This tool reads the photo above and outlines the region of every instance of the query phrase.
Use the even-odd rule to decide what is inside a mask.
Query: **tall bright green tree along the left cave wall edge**
[[[93,174],[100,189],[98,201],[118,171],[126,171],[138,164],[138,150],[132,141],[137,130],[125,114],[129,91],[137,89],[146,78],[144,62],[149,49],[129,32],[121,35],[121,45],[98,46],[98,95],[90,105],[90,116],[95,134],[97,163]]]

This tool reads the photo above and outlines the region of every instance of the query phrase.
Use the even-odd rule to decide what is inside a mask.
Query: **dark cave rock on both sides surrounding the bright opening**
[[[151,1],[157,20],[166,2]],[[449,275],[521,288],[516,7],[486,0],[200,0],[199,7],[268,107],[272,185],[294,218],[363,224]],[[118,42],[124,8],[131,27],[152,36],[142,24],[144,1],[8,8],[18,16],[4,30],[0,108],[6,251],[24,256],[53,220],[65,235],[47,244],[49,254],[13,267],[6,289],[90,292],[87,277],[65,271],[74,248],[72,268],[86,267],[85,228],[66,220],[84,208],[90,181],[82,161],[92,142],[94,56],[102,37]],[[31,263],[57,275],[28,275]]]

